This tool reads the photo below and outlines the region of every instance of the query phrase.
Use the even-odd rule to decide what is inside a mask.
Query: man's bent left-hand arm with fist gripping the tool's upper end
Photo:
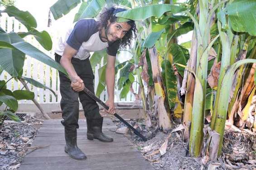
[[[80,92],[84,88],[84,83],[82,79],[77,75],[77,72],[75,71],[71,59],[73,55],[77,54],[77,50],[73,49],[71,46],[67,45],[64,49],[63,55],[60,59],[60,64],[66,69],[68,72],[69,78],[72,80],[71,87],[73,87],[73,90]],[[76,82],[76,83],[73,83]]]

